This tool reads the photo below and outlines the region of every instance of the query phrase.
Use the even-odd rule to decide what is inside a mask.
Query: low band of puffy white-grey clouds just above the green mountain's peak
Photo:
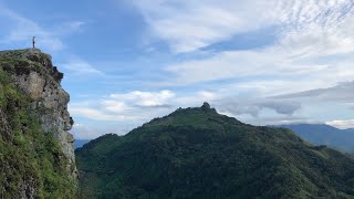
[[[177,107],[200,106],[205,101],[216,107],[219,113],[253,125],[323,123],[323,119],[304,117],[299,114],[302,105],[296,101],[261,96],[238,97],[227,94],[222,88],[220,91],[200,91],[189,94],[177,94],[173,91],[134,91],[111,94],[96,101],[71,104],[69,111],[74,118],[79,118],[79,124],[85,124],[74,127],[77,136],[92,138],[105,133],[126,134],[134,127],[155,117],[171,113]],[[106,123],[114,123],[115,125],[110,130],[103,127],[95,133],[93,130],[96,129],[94,126],[87,127],[91,122],[83,123],[80,121],[82,118],[88,118],[97,125],[105,126]],[[87,130],[86,134],[85,130]]]

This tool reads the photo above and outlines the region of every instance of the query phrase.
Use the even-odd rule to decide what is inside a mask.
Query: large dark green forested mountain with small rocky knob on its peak
[[[287,128],[178,108],[76,151],[81,198],[353,198],[354,160]]]

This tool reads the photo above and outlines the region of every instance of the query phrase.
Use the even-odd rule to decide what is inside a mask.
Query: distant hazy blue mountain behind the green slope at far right
[[[281,125],[295,132],[304,140],[327,145],[343,151],[354,151],[354,129],[339,129],[325,124]]]

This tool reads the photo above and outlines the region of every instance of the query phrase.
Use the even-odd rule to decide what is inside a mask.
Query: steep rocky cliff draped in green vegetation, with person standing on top
[[[77,170],[63,73],[38,49],[0,51],[0,198],[73,198]]]

